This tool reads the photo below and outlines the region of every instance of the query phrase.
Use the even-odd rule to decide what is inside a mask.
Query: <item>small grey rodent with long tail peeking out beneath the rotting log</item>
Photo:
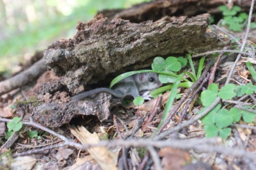
[[[133,96],[136,98],[141,96],[140,93],[144,93],[142,97],[144,99],[150,99],[148,95],[150,90],[161,87],[162,83],[159,81],[158,74],[152,72],[134,74],[115,84],[112,89],[109,88],[98,88],[83,92],[78,95],[72,96],[71,101],[81,100],[87,96],[91,96],[99,92],[109,92],[117,98],[125,98],[126,96]]]

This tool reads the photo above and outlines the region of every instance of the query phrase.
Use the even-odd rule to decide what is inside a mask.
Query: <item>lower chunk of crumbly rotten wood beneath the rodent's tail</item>
[[[94,115],[100,121],[105,121],[117,102],[120,103],[120,99],[114,99],[109,93],[98,93],[95,98],[87,98],[83,101],[38,105],[32,109],[31,116],[35,122],[46,127],[60,127],[80,115]]]

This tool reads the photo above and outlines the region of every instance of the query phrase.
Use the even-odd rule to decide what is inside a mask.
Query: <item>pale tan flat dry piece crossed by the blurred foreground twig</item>
[[[78,140],[80,140],[83,145],[87,143],[93,144],[100,142],[97,133],[89,133],[89,131],[83,126],[78,126],[77,128],[69,127],[69,130],[72,134],[74,134],[75,137],[77,137]],[[89,148],[88,152],[97,161],[101,169],[118,169],[117,159],[119,151],[114,153],[104,147],[95,147]]]

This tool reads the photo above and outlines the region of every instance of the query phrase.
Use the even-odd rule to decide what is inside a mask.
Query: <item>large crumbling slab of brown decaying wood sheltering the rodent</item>
[[[88,23],[78,23],[74,39],[60,40],[44,52],[45,63],[63,75],[72,93],[86,84],[97,83],[110,74],[145,68],[156,56],[222,49],[229,40],[207,27],[210,14],[179,17],[173,22],[143,22],[113,19],[102,15]]]

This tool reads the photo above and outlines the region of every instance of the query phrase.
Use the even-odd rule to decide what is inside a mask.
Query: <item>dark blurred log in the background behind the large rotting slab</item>
[[[99,13],[104,14],[109,20],[121,18],[136,23],[144,22],[146,20],[156,21],[165,16],[192,17],[202,13],[210,13],[222,18],[221,11],[218,9],[220,5],[229,5],[230,7],[232,5],[238,5],[242,7],[242,11],[248,13],[251,6],[251,0],[232,0],[229,4],[227,4],[226,0],[155,0],[134,5],[133,7],[124,10],[103,10]]]

